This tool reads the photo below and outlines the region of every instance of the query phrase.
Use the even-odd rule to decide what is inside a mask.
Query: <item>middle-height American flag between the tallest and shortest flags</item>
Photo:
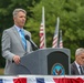
[[[57,48],[57,40],[59,40],[59,23],[60,23],[60,18],[57,17],[57,23],[56,23],[56,27],[55,27],[55,32],[54,32],[54,37],[53,37],[52,48]]]

